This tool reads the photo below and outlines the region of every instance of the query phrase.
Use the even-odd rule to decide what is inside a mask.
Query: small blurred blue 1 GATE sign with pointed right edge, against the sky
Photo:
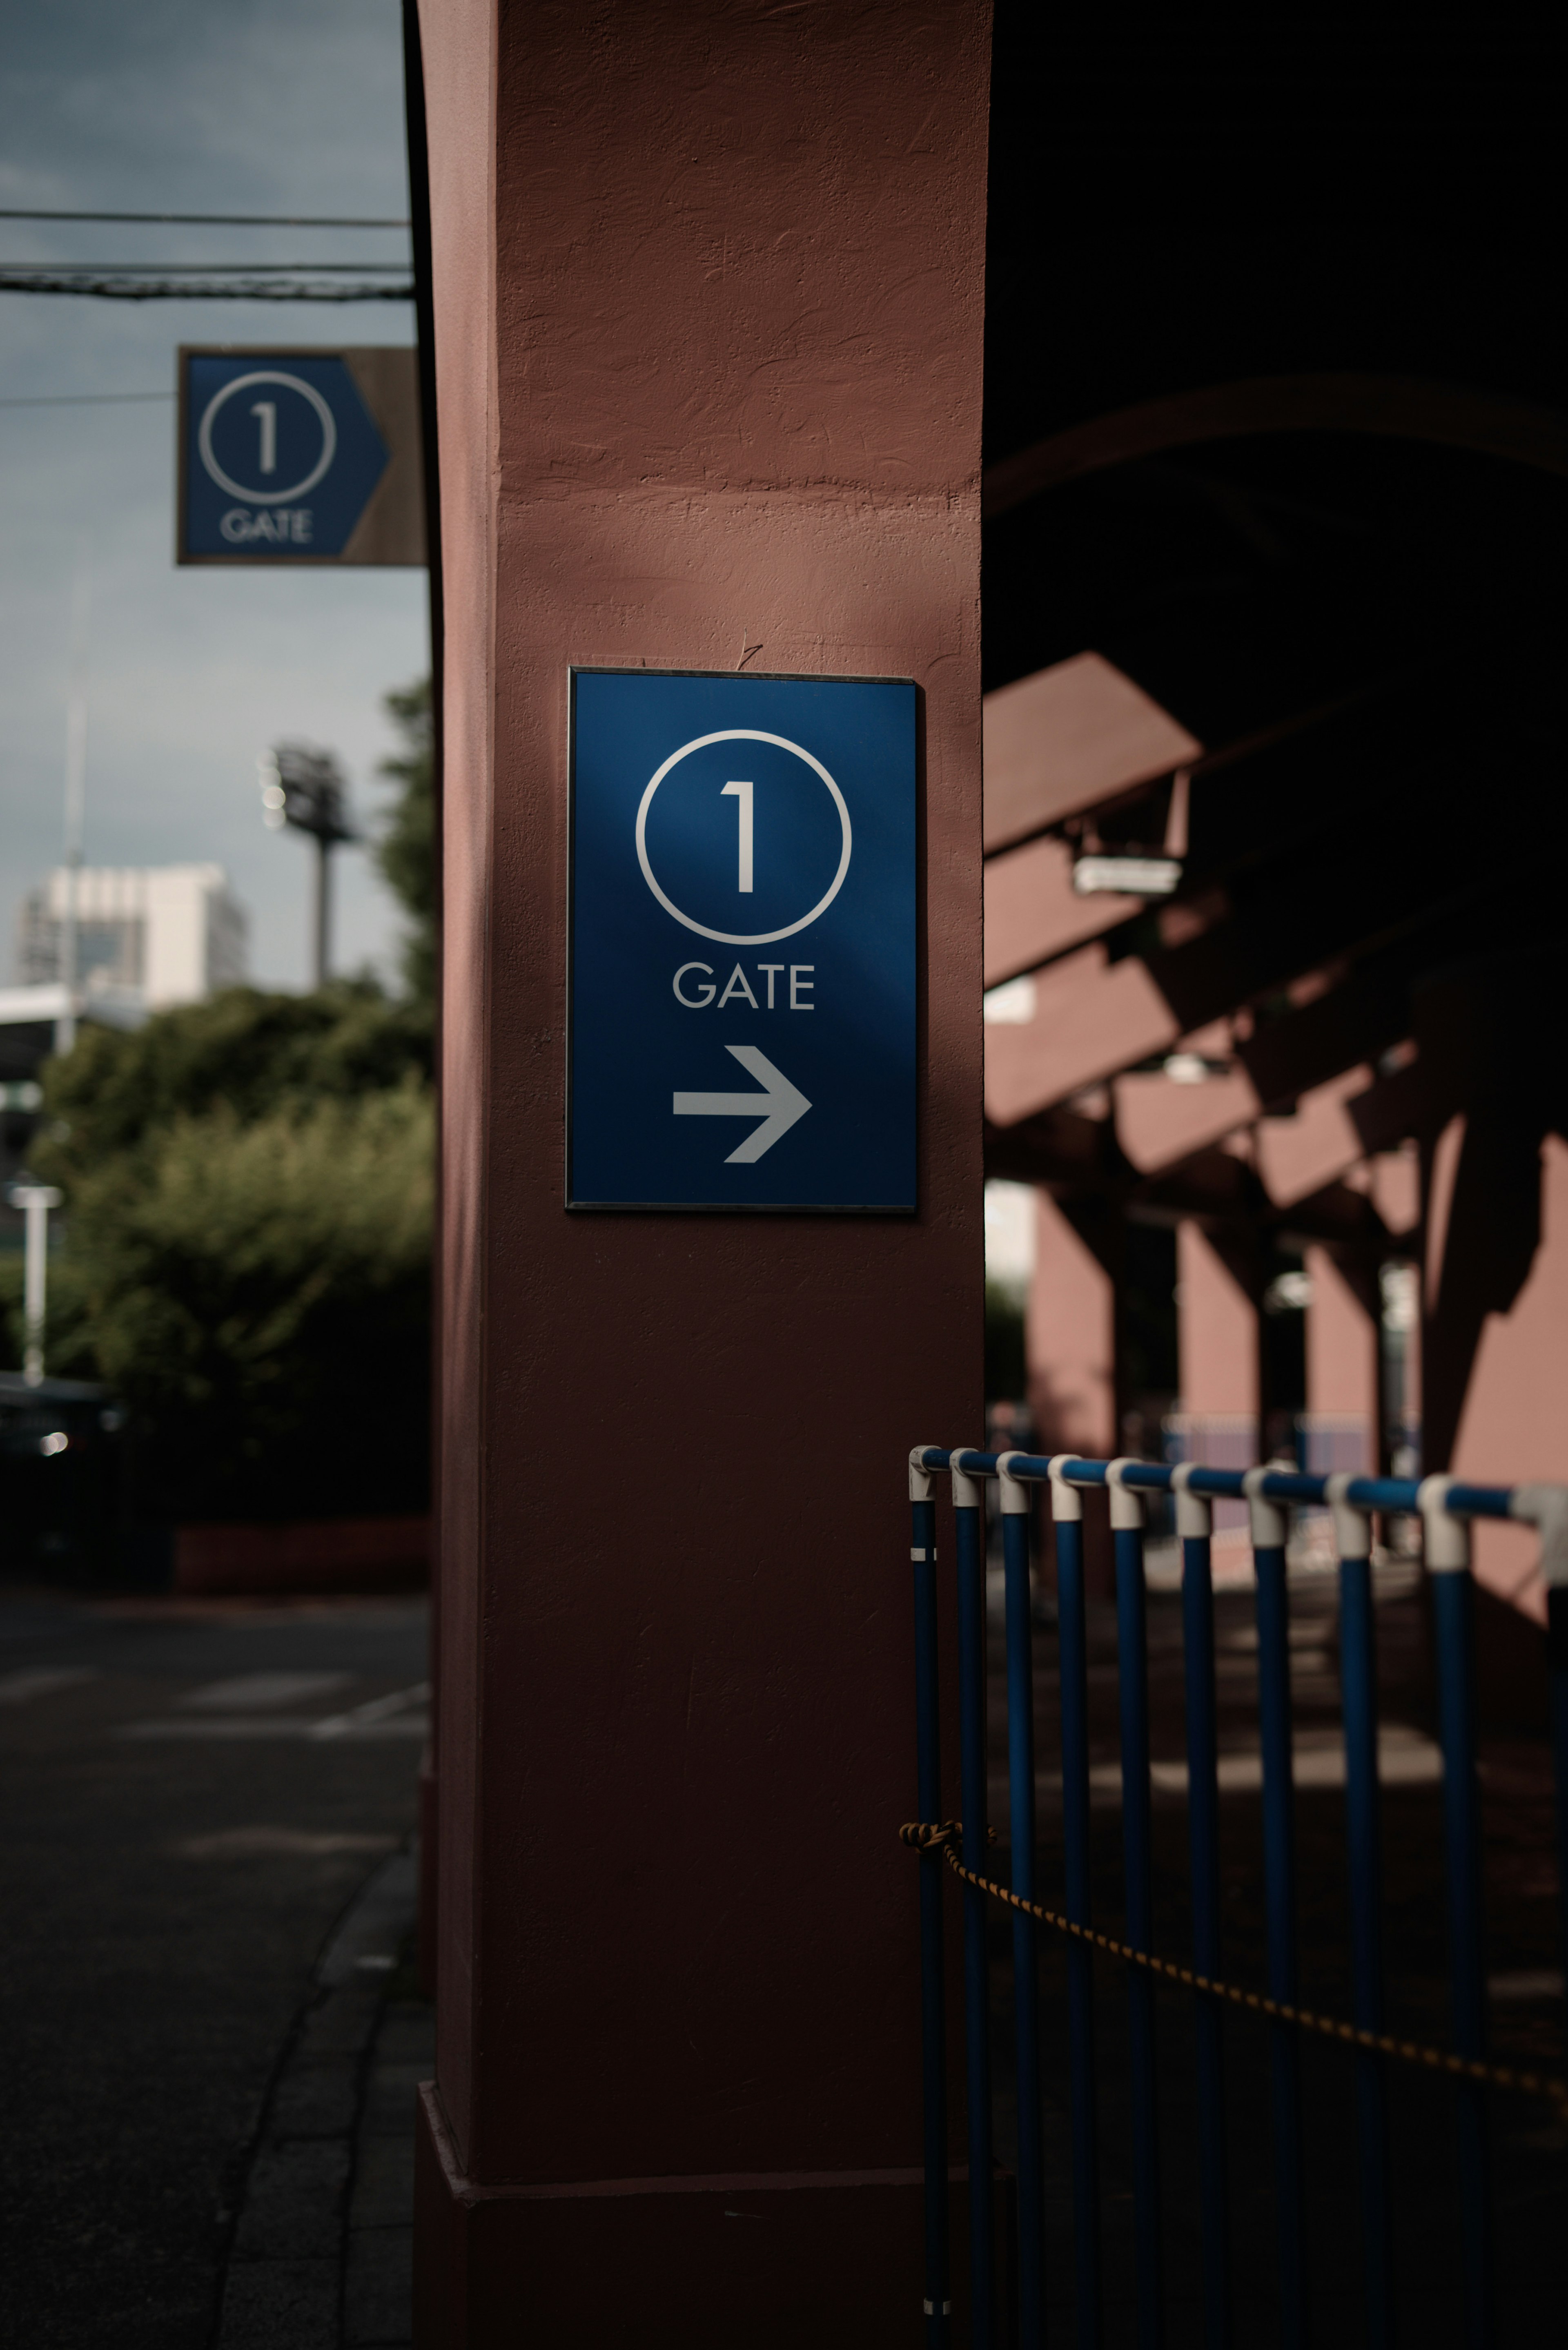
[[[181,352],[181,562],[341,555],[388,446],[341,357]]]

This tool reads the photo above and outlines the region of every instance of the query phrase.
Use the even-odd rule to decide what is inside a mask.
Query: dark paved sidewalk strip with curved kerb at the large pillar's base
[[[435,2056],[402,1955],[414,1894],[414,1854],[397,1852],[320,1960],[240,2190],[219,2350],[411,2341],[414,2087]]]

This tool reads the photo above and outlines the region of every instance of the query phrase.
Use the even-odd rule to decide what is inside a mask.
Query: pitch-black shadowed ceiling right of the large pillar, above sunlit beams
[[[1152,916],[1107,949],[1192,1027],[1248,1006],[1284,1107],[1413,1034],[1465,959],[1523,956],[1535,1010],[1556,1001],[1566,118],[1568,21],[1544,14],[1063,31],[997,9],[985,686],[1098,651],[1206,745],[1180,898],[1211,912],[1178,949]],[[1154,430],[1058,461],[1117,411],[1258,378],[1345,378],[1352,409],[1356,383],[1392,388],[1378,432]],[[1432,400],[1458,428],[1420,423]],[[1535,463],[1497,454],[1514,442]],[[1159,841],[1164,804],[1154,785],[1100,830]],[[1309,971],[1331,994],[1307,1015],[1281,987]],[[1375,1147],[1436,1116],[1427,1062]],[[1060,1107],[990,1152],[1084,1198],[1119,1168]]]

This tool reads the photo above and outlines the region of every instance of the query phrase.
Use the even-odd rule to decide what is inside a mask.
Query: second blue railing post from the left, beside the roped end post
[[[959,1788],[964,1866],[985,1875],[985,1532],[980,1485],[950,1452],[952,1525],[959,1567]],[[997,2350],[992,2263],[992,2080],[985,1894],[964,1887],[964,2056],[969,2073],[969,2315],[976,2350]]]

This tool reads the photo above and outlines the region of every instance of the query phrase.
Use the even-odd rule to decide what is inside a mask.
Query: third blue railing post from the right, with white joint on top
[[[1345,1723],[1345,1838],[1349,1847],[1352,2014],[1361,2030],[1382,2030],[1382,1831],[1378,1798],[1378,1638],[1373,1624],[1371,1518],[1342,1492],[1352,1478],[1326,1480],[1340,1551],[1340,1713]],[[1361,2141],[1361,2232],[1366,2244],[1366,2338],[1394,2341],[1394,2249],[1389,2237],[1389,2124],[1382,2056],[1356,2054],[1356,2127]]]

